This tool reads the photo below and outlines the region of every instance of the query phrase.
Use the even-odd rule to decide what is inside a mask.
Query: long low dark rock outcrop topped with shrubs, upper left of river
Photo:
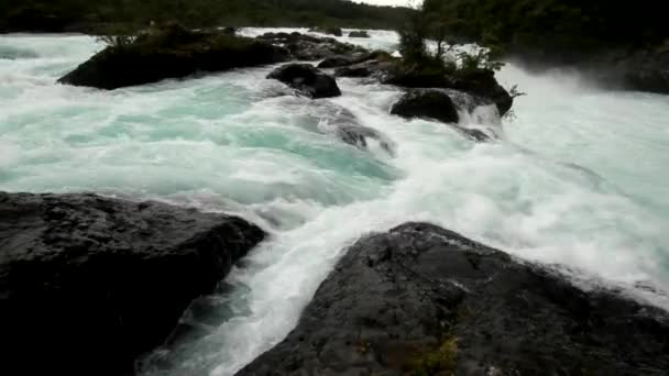
[[[117,89],[182,78],[198,71],[220,71],[287,59],[285,48],[268,43],[169,25],[134,41],[118,38],[117,44],[108,46],[58,82]]]

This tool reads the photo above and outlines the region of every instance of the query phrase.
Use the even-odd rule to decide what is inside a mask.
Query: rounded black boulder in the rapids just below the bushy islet
[[[457,123],[460,120],[449,92],[441,89],[409,90],[393,104],[391,113],[407,119],[434,119],[445,123]]]

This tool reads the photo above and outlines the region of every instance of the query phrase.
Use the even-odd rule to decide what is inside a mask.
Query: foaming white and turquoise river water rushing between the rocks
[[[372,34],[358,42],[396,43]],[[390,115],[397,88],[339,79],[342,97],[310,101],[265,80],[272,67],[114,91],[54,84],[100,48],[0,36],[0,189],[157,199],[271,233],[184,317],[193,330],[146,358],[150,375],[233,374],[294,328],[348,244],[409,220],[669,308],[669,97],[507,66],[501,81],[527,96],[502,124],[490,109],[467,117],[501,135],[478,144]],[[342,143],[342,108],[394,153]]]

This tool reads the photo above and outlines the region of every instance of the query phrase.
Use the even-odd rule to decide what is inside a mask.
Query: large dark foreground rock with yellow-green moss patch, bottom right
[[[297,328],[238,375],[659,376],[667,319],[408,223],[354,244]]]

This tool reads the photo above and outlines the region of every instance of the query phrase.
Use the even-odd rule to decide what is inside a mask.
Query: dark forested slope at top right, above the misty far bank
[[[507,48],[592,51],[658,45],[665,0],[425,0],[449,33]]]

